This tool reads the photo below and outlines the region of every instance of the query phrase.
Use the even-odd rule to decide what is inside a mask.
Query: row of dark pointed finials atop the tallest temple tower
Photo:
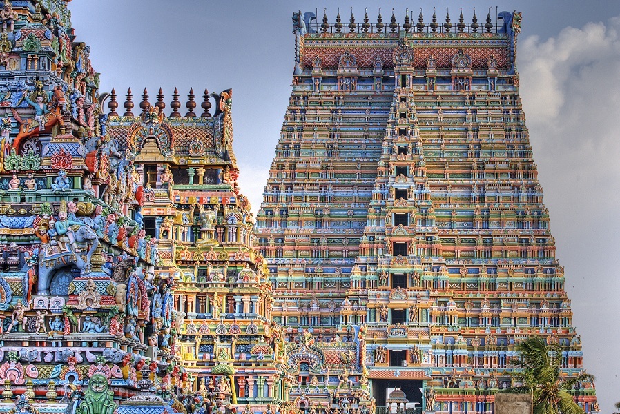
[[[411,14],[413,14],[413,12],[411,12]],[[405,14],[405,23],[403,23],[402,29],[405,30],[405,32],[409,32],[411,30],[412,23],[413,22],[413,16],[409,17],[409,9],[407,8],[407,12]],[[492,18],[491,18],[491,11],[489,10],[489,12],[487,13],[487,19],[486,19],[486,23],[484,24],[484,28],[486,30],[487,33],[491,33],[491,31],[493,30],[493,28],[496,28],[498,26],[497,21],[495,23],[493,23]],[[371,23],[369,23],[369,19],[368,19],[368,11],[365,11],[364,14],[364,23],[358,25],[358,23],[356,23],[355,17],[353,16],[353,8],[351,8],[351,17],[349,18],[349,24],[347,25],[347,28],[349,30],[350,33],[355,33],[355,32],[364,32],[364,33],[368,33],[368,32],[377,32],[377,33],[381,33],[381,32],[398,32],[401,28],[400,23],[396,23],[396,16],[394,15],[394,8],[392,8],[392,12],[391,12],[391,19],[390,19],[390,23],[386,25],[383,23],[383,17],[381,16],[381,8],[379,8],[379,15],[377,17],[377,22],[375,23],[374,27],[371,25]],[[463,32],[472,32],[472,33],[476,33],[478,32],[478,29],[481,28],[481,25],[478,24],[478,17],[476,16],[476,8],[474,8],[474,17],[472,17],[472,23],[465,23],[465,18],[463,17],[463,8],[461,8],[461,15],[458,17],[458,23],[453,24],[451,19],[450,19],[450,13],[448,8],[446,8],[446,15],[445,15],[445,23],[443,23],[443,25],[441,25],[440,23],[437,22],[437,14],[436,14],[436,10],[435,8],[433,8],[433,17],[431,19],[431,23],[429,23],[428,25],[424,23],[424,17],[422,15],[422,8],[420,8],[420,15],[418,16],[418,23],[416,24],[416,28],[418,32],[445,32],[445,33],[449,33],[449,32],[456,32],[456,33],[463,33]],[[344,30],[343,30],[344,29]],[[342,23],[342,19],[340,18],[340,9],[338,10],[338,15],[336,16],[336,23],[330,24],[328,23],[328,19],[327,19],[327,8],[323,10],[323,23],[321,25],[318,25],[318,23],[316,23],[316,30],[320,30],[323,33],[342,33],[342,32],[347,32],[347,29],[345,28],[345,23]]]

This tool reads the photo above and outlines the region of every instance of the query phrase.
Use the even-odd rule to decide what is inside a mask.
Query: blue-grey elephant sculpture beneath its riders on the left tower
[[[37,282],[39,295],[50,295],[50,284],[57,269],[75,266],[79,268],[81,275],[90,273],[90,259],[99,246],[97,233],[90,225],[82,224],[79,229],[75,230],[75,243],[81,249],[81,253],[73,251],[69,244],[65,244],[65,250],[61,250],[59,245],[53,242],[41,244]]]

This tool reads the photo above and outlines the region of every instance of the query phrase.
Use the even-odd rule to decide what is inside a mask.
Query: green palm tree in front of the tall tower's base
[[[530,337],[517,344],[518,359],[511,359],[510,365],[519,368],[512,377],[522,386],[503,391],[513,394],[532,394],[534,414],[584,414],[574,402],[570,390],[578,382],[591,382],[588,374],[564,379],[561,377],[562,347],[548,345],[541,337]]]

